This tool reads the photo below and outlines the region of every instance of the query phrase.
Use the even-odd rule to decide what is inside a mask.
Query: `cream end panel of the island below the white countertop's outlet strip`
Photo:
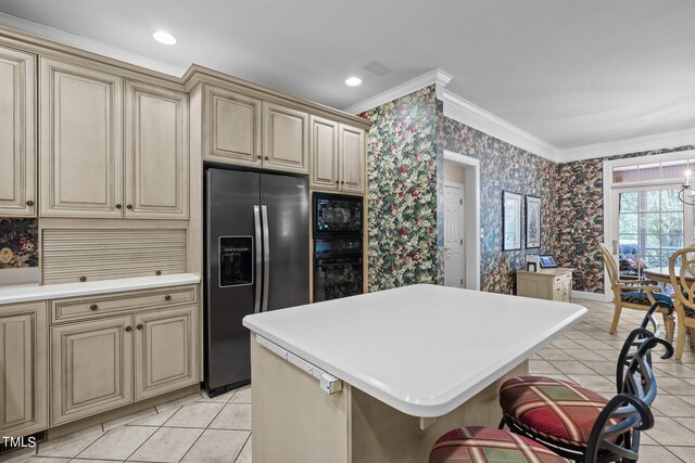
[[[349,391],[318,381],[251,335],[253,463],[349,463]]]

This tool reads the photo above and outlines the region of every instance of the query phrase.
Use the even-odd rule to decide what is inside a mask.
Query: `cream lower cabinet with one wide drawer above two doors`
[[[187,292],[193,300],[181,304],[177,294]],[[79,301],[52,301],[52,426],[199,383],[193,287]],[[60,322],[76,317],[85,321]]]

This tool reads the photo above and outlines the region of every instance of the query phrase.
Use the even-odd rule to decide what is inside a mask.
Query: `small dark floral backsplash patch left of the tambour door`
[[[38,221],[0,218],[0,269],[38,266]]]

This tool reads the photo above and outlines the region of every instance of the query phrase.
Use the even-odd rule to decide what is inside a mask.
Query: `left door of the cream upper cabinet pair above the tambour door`
[[[39,169],[43,217],[122,217],[123,79],[39,60]]]

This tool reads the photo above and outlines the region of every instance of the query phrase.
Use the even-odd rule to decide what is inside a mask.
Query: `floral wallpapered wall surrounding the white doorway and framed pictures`
[[[502,252],[502,190],[543,200],[541,252],[555,253],[556,165],[444,117],[434,87],[362,114],[372,121],[367,141],[369,177],[369,290],[443,276],[443,218],[439,208],[443,152],[481,160],[481,285],[509,293],[526,249]],[[528,250],[538,253],[539,249]]]

